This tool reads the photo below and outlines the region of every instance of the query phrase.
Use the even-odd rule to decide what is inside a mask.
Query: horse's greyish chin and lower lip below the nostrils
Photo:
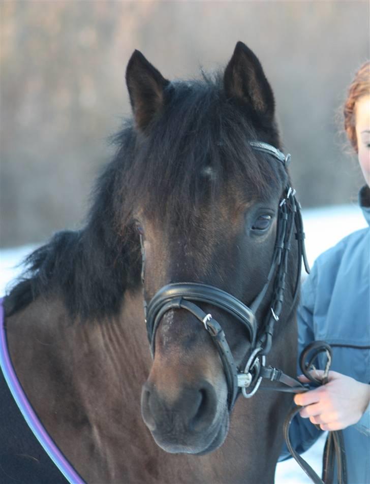
[[[157,435],[152,432],[157,445],[169,454],[193,454],[203,456],[218,449],[225,442],[229,431],[230,418],[228,411],[220,419],[220,425],[217,430],[211,432],[208,436],[200,435],[198,441],[187,442],[186,437],[179,438],[174,435]]]

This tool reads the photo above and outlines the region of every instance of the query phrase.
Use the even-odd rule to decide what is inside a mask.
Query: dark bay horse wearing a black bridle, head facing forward
[[[206,321],[180,306],[160,318],[152,360],[143,310],[169,283],[208,284],[246,305],[264,287],[289,183],[283,164],[250,144],[281,149],[271,87],[240,42],[212,78],[169,82],[135,51],[126,79],[133,120],[116,138],[85,227],[31,254],[5,299],[14,369],[86,482],[271,483],[292,397],[261,390],[230,405]],[[267,356],[293,375],[295,245]],[[241,366],[247,328],[198,306],[220,321]]]

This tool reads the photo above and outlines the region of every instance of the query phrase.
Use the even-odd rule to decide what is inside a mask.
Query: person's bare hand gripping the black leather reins
[[[324,372],[314,370],[313,376],[322,379]],[[302,383],[309,380],[298,376]],[[341,430],[356,424],[370,401],[370,385],[360,383],[350,376],[336,371],[329,371],[328,383],[310,392],[300,393],[294,397],[303,418],[310,417],[313,424],[320,425],[322,430]]]

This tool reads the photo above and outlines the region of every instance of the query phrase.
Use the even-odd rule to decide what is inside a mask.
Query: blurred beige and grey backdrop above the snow
[[[134,49],[174,79],[222,68],[246,43],[275,92],[303,207],[356,200],[341,106],[369,57],[367,0],[2,0],[0,13],[2,247],[83,223],[108,138],[130,115]]]

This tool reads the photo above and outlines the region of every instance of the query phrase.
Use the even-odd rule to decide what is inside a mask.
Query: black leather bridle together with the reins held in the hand
[[[259,141],[250,141],[249,144],[254,150],[267,153],[268,155],[274,157],[279,163],[283,164],[285,169],[287,169],[291,159],[290,154],[285,155],[279,149]],[[171,309],[185,309],[192,313],[204,326],[204,329],[208,332],[213,343],[219,351],[224,367],[228,386],[229,411],[232,410],[240,393],[245,398],[251,398],[259,388],[261,388],[261,390],[274,390],[290,393],[302,393],[311,389],[309,385],[302,384],[299,380],[286,375],[282,370],[272,366],[265,366],[266,355],[269,353],[272,346],[274,326],[276,322],[279,321],[284,305],[286,275],[288,272],[288,256],[289,251],[291,250],[291,241],[293,238],[294,229],[295,240],[297,241],[298,246],[298,264],[293,301],[288,318],[291,316],[298,299],[302,261],[305,271],[310,273],[304,247],[301,207],[295,197],[295,193],[296,191],[290,185],[285,187],[284,196],[279,203],[277,234],[271,267],[262,290],[251,303],[250,307],[246,306],[234,296],[222,291],[222,289],[219,289],[218,287],[195,282],[168,284],[159,289],[148,305],[146,304],[144,297],[146,329],[152,357],[154,357],[156,349],[156,332],[162,317],[167,311]],[[140,243],[142,255],[141,279],[142,282],[144,282],[145,250],[141,235]],[[269,304],[270,310],[268,311],[265,320],[261,324],[262,332],[260,336],[258,336],[256,314],[264,301],[271,284],[273,284],[273,294]],[[220,323],[215,320],[211,314],[206,314],[196,303],[206,303],[217,306],[235,317],[246,328],[249,334],[251,348],[249,354],[247,354],[244,359],[245,363],[241,365],[243,370],[240,370],[234,361],[231,349]],[[314,356],[310,359],[309,363],[306,364],[304,359],[306,358],[307,353],[312,349],[315,349]],[[324,384],[326,382],[325,379],[322,382],[316,380],[309,373],[309,369],[312,366],[314,359],[321,351],[325,351],[328,356],[328,364],[326,366],[327,375],[331,362],[331,348],[327,343],[314,342],[312,345],[307,346],[300,356],[302,372],[307,376],[307,378],[310,379],[314,386],[318,386],[319,384]],[[261,381],[264,378],[269,379],[270,381],[282,383],[286,386],[260,387]],[[294,415],[298,413],[300,408],[301,407],[294,406],[286,418],[284,423],[284,436],[286,443],[291,455],[306,472],[306,474],[309,475],[313,482],[315,484],[323,484],[323,480],[321,480],[315,471],[295,452],[289,439],[289,426]],[[337,458],[336,462],[338,477],[342,479],[340,480],[340,484],[345,484],[347,482],[347,477],[343,437],[341,432],[330,432],[329,435],[334,435],[334,437],[330,437],[330,440],[328,439],[327,444],[325,445],[323,478],[325,482],[332,481],[330,479],[332,479],[333,475],[333,457],[335,453]]]

